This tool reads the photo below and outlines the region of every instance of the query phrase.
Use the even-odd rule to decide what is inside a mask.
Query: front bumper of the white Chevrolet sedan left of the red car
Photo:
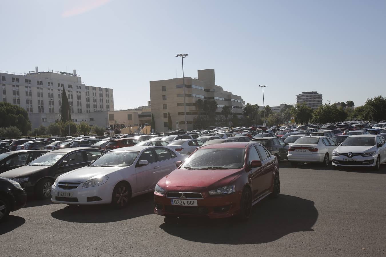
[[[100,186],[92,186],[89,188],[82,188],[81,183],[74,189],[62,189],[58,186],[51,187],[51,201],[53,203],[66,203],[73,205],[95,205],[111,203],[113,185],[104,183]],[[73,197],[58,197],[58,191],[73,193]]]

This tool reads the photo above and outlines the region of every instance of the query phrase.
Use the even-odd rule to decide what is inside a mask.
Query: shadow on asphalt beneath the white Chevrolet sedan
[[[134,197],[123,209],[110,205],[69,205],[51,213],[53,218],[68,222],[104,223],[128,220],[154,213],[154,193]]]

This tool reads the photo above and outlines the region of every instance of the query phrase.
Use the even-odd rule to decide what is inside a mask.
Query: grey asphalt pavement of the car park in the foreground
[[[152,193],[128,208],[30,199],[0,224],[1,256],[385,256],[386,165],[378,172],[280,162],[281,195],[248,222],[168,219]]]

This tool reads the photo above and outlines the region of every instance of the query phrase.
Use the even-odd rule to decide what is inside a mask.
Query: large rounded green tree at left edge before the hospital
[[[27,111],[9,102],[0,102],[0,121],[0,127],[16,126],[23,135],[31,130]]]

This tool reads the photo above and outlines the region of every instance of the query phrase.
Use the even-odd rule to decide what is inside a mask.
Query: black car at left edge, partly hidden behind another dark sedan
[[[24,166],[37,157],[44,155],[47,150],[9,151],[0,155],[0,174]]]

